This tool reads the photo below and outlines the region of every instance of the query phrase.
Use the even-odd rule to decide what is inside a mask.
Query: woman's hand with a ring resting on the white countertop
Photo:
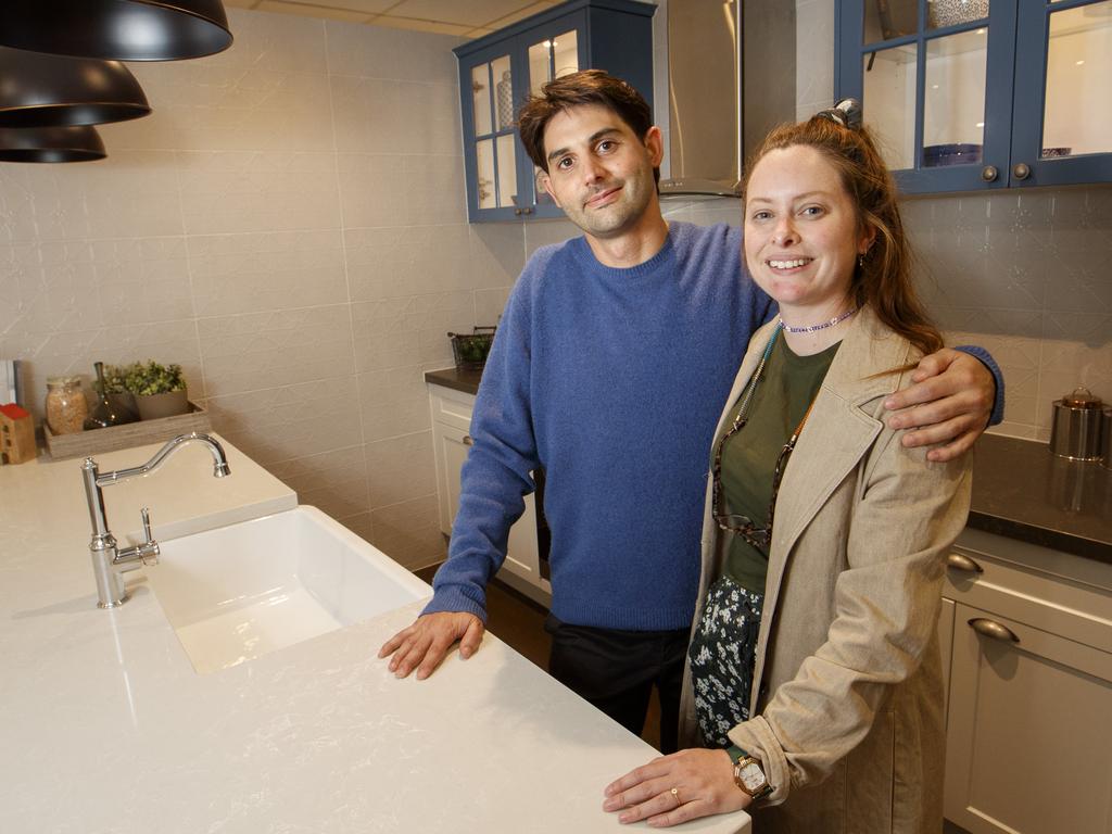
[[[603,811],[620,812],[619,823],[645,820],[654,827],[742,811],[751,800],[734,784],[724,749],[682,749],[654,758],[606,786]]]

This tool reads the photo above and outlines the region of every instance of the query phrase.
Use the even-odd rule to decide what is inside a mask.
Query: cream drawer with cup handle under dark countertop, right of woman
[[[1112,592],[953,547],[943,596],[1112,652]]]

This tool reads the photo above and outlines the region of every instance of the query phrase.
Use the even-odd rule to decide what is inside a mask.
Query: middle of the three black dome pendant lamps
[[[142,88],[119,61],[0,47],[0,127],[100,125],[149,112]]]

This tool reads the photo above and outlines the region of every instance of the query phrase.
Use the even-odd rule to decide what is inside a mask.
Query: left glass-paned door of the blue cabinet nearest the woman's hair
[[[862,100],[865,123],[905,191],[1007,185],[1011,77],[990,68],[1012,51],[1015,9],[1014,0],[991,6],[843,6],[840,89]]]

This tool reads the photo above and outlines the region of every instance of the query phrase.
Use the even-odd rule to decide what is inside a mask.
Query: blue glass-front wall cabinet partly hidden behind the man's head
[[[545,82],[588,68],[652,101],[655,11],[632,0],[573,0],[456,47],[471,222],[564,216],[537,182],[516,111]]]

